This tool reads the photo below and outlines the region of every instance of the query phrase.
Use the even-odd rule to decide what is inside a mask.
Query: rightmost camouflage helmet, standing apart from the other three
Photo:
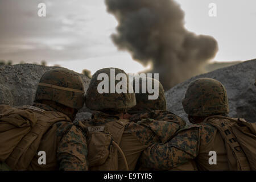
[[[226,89],[220,81],[212,78],[199,78],[192,81],[182,101],[188,115],[204,117],[229,113]]]

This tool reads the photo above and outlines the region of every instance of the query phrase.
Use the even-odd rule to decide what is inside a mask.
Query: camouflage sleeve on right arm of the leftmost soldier
[[[65,123],[58,127],[57,135],[61,137],[57,149],[59,169],[65,171],[88,170],[88,148],[84,133],[72,125]]]

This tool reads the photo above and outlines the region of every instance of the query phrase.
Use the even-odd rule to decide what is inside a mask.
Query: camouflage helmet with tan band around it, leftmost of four
[[[35,102],[55,101],[73,109],[84,105],[82,78],[68,69],[51,69],[41,77],[35,94]]]

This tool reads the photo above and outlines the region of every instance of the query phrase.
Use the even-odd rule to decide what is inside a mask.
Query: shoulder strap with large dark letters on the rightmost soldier
[[[206,118],[204,122],[210,123],[210,125],[213,125],[218,129],[218,131],[220,131],[222,138],[231,148],[234,156],[236,157],[237,163],[240,166],[238,167],[238,169],[241,169],[242,171],[250,170],[249,162],[246,158],[246,155],[243,152],[242,147],[240,146],[240,143],[237,142],[237,138],[232,133],[231,127],[234,123],[228,122],[226,120],[223,121],[221,119],[229,119],[230,121],[234,121],[234,122],[237,121],[236,119],[233,119],[233,118],[217,115],[217,116]]]

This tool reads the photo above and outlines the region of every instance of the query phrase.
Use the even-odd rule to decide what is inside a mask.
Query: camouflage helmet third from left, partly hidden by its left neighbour
[[[139,90],[142,91],[142,78],[139,78],[139,80],[135,80],[135,86],[137,84],[139,84]],[[152,86],[154,86],[155,82],[158,82],[158,98],[156,98],[156,100],[149,100],[148,96],[152,95],[150,93],[148,93],[148,90],[146,93],[135,93],[135,97],[136,97],[136,106],[134,106],[132,109],[129,110],[129,113],[139,113],[141,111],[151,111],[151,110],[166,110],[166,97],[164,96],[164,89],[162,84],[154,79],[154,78],[150,78],[147,77],[145,79],[145,82],[147,83],[148,81],[152,82]],[[144,84],[146,86],[146,83]],[[134,86],[134,89],[135,89]],[[154,93],[155,94],[155,93]]]

